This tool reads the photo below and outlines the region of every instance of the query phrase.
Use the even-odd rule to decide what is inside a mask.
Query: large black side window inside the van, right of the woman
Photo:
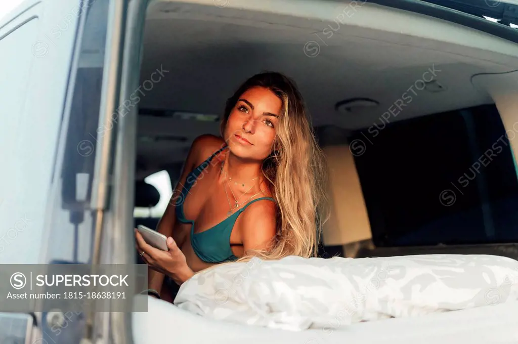
[[[358,140],[376,246],[518,241],[516,165],[494,105],[378,123]]]

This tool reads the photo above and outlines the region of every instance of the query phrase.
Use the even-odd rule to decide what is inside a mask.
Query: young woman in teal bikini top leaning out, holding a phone
[[[316,255],[327,174],[294,82],[279,73],[248,79],[227,100],[221,133],[191,146],[157,227],[169,251],[135,232],[148,288],[162,298],[214,264]]]

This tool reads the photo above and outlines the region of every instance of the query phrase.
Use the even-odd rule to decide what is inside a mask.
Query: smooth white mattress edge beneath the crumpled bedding
[[[148,297],[148,312],[133,313],[132,323],[135,344],[518,344],[518,302],[362,322],[334,331],[286,331],[210,320]]]

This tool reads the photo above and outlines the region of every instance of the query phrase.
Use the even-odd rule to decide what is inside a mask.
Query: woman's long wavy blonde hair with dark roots
[[[271,249],[246,252],[237,262],[249,261],[253,256],[264,260],[317,256],[322,226],[329,217],[327,164],[295,82],[275,72],[249,78],[227,99],[221,133],[239,97],[253,87],[266,88],[282,101],[274,149],[262,166],[278,206],[277,233]]]

